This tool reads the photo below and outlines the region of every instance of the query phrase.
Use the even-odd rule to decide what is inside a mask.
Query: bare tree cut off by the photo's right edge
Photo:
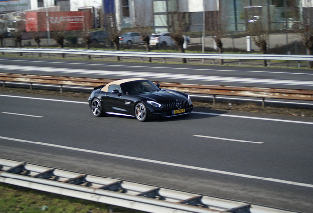
[[[313,2],[307,0],[305,6],[302,13],[298,12],[296,32],[301,36],[308,55],[313,55]],[[313,68],[313,61],[310,62],[310,68]]]

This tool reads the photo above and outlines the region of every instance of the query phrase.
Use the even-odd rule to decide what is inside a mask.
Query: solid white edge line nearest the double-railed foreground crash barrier
[[[73,150],[73,151],[81,151],[81,152],[86,152],[86,153],[112,156],[112,157],[117,157],[117,158],[137,160],[137,161],[142,161],[142,162],[149,162],[149,163],[155,163],[155,164],[160,164],[160,165],[174,166],[174,167],[193,169],[193,170],[199,170],[199,171],[205,171],[205,172],[219,173],[219,174],[237,176],[237,177],[242,177],[242,178],[266,180],[266,181],[271,181],[271,182],[284,183],[284,184],[288,184],[288,185],[296,185],[296,186],[313,188],[312,184],[306,184],[306,183],[298,183],[298,182],[292,182],[292,181],[286,181],[286,180],[280,180],[280,179],[251,176],[251,175],[226,172],[226,171],[221,171],[221,170],[214,170],[214,169],[208,169],[208,168],[188,166],[188,165],[183,165],[183,164],[169,163],[169,162],[150,160],[150,159],[144,159],[144,158],[137,158],[137,157],[131,157],[131,156],[125,156],[125,155],[118,155],[118,154],[112,154],[112,153],[106,153],[106,152],[99,152],[99,151],[93,151],[93,150],[87,150],[87,149],[73,148],[73,147],[62,146],[62,145],[54,145],[54,144],[49,144],[49,143],[33,142],[33,141],[27,141],[27,140],[22,140],[22,139],[8,138],[8,137],[3,137],[3,136],[0,136],[0,139],[9,140],[9,141],[16,141],[16,142],[26,142],[26,143],[31,143],[31,144],[43,145],[43,146],[51,146],[51,147],[55,147],[55,148],[62,148],[62,149]]]

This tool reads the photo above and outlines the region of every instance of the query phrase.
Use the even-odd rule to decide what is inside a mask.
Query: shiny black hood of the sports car
[[[159,103],[172,103],[176,101],[187,101],[187,94],[174,91],[174,90],[166,90],[161,89],[159,91],[139,94],[138,96],[145,98],[147,100],[156,101]]]

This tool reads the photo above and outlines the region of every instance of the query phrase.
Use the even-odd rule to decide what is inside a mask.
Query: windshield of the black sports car
[[[120,86],[124,94],[148,93],[159,90],[159,88],[149,80],[126,82]]]

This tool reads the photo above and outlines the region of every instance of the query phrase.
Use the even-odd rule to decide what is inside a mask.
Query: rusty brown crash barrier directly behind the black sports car
[[[0,73],[0,80],[5,82],[27,82],[32,85],[37,84],[54,84],[60,85],[60,93],[63,93],[63,85],[97,87],[107,84],[116,79],[99,79],[83,77],[66,77],[66,76],[45,76],[29,74],[10,74]],[[216,95],[225,96],[244,96],[262,98],[262,106],[265,107],[265,99],[290,99],[301,101],[313,101],[313,90],[301,89],[277,89],[277,88],[260,88],[260,87],[235,87],[235,86],[211,86],[202,84],[182,84],[182,83],[160,83],[161,88],[173,89],[185,93],[209,94],[213,95],[213,104],[216,103]]]

